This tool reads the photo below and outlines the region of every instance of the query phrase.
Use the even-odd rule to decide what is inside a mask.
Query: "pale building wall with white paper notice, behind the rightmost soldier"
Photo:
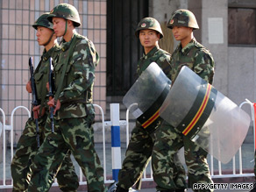
[[[196,7],[199,2],[202,10],[196,10],[196,13],[201,12],[202,21],[201,39],[197,40],[210,50],[216,62],[214,87],[237,104],[244,102],[245,98],[256,102],[256,48],[228,46],[228,0],[150,0],[149,16],[161,23],[168,21],[173,11],[189,10],[189,5]],[[210,23],[212,19],[217,23]],[[216,31],[210,32],[209,28],[214,25]],[[174,47],[176,45],[174,40]]]

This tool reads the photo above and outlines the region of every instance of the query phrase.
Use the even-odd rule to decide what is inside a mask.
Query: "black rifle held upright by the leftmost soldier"
[[[34,69],[32,66],[32,57],[29,58],[29,69],[30,69],[30,82],[31,82],[31,88],[32,88],[32,109],[35,106],[38,106],[38,99],[37,99],[37,91],[36,91],[36,85],[35,85],[35,80],[34,80]],[[35,116],[33,113],[36,113]],[[40,146],[40,141],[39,141],[39,114],[38,111],[33,111],[32,110],[32,120],[35,120],[36,123],[36,133],[37,133],[37,143],[38,147]]]

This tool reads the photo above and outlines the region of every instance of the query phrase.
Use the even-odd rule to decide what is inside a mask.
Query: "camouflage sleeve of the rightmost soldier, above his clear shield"
[[[203,80],[212,84],[215,62],[209,52],[200,50],[196,53],[194,72]]]

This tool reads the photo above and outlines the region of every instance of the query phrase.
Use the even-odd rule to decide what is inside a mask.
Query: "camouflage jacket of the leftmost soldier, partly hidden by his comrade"
[[[46,52],[46,49],[44,50],[41,60],[39,62],[39,65],[35,69],[34,72],[34,79],[36,84],[36,90],[37,90],[37,97],[39,100],[39,103],[47,107],[47,89],[46,89],[46,82],[48,82],[48,75],[49,75],[49,59],[50,57],[55,60],[58,56],[58,53],[60,53],[60,46],[58,44],[55,44],[50,50]]]

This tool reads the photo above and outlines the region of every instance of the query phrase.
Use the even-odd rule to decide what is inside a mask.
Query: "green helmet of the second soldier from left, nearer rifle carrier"
[[[65,18],[73,21],[75,26],[81,25],[79,13],[71,4],[58,4],[54,7],[48,16],[48,20],[53,22],[53,18]]]

